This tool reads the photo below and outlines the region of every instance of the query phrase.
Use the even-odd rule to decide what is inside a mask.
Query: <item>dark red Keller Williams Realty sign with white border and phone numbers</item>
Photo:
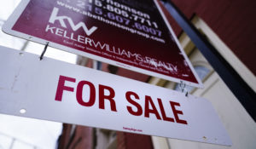
[[[3,31],[201,87],[156,0],[23,0]]]

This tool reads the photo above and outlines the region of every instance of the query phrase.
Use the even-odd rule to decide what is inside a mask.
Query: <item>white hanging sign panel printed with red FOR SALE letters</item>
[[[0,47],[0,112],[230,146],[208,100]]]

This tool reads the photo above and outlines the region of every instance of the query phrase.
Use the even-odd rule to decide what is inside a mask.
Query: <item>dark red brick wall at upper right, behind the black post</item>
[[[217,33],[236,56],[256,75],[256,1],[253,0],[172,0],[191,19],[197,14]],[[181,28],[169,15],[177,35]]]

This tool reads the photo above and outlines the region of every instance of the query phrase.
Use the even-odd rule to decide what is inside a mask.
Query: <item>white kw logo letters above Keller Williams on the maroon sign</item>
[[[93,32],[96,31],[97,27],[92,26],[90,29],[87,28],[87,26],[84,24],[84,22],[79,22],[77,25],[73,23],[73,20],[68,17],[68,16],[57,16],[59,12],[58,8],[54,8],[52,13],[50,14],[49,17],[49,23],[55,24],[55,21],[59,21],[61,26],[64,28],[67,28],[67,25],[64,20],[67,20],[73,31],[77,31],[80,27],[84,29],[84,32],[86,33],[87,36],[90,36]]]

